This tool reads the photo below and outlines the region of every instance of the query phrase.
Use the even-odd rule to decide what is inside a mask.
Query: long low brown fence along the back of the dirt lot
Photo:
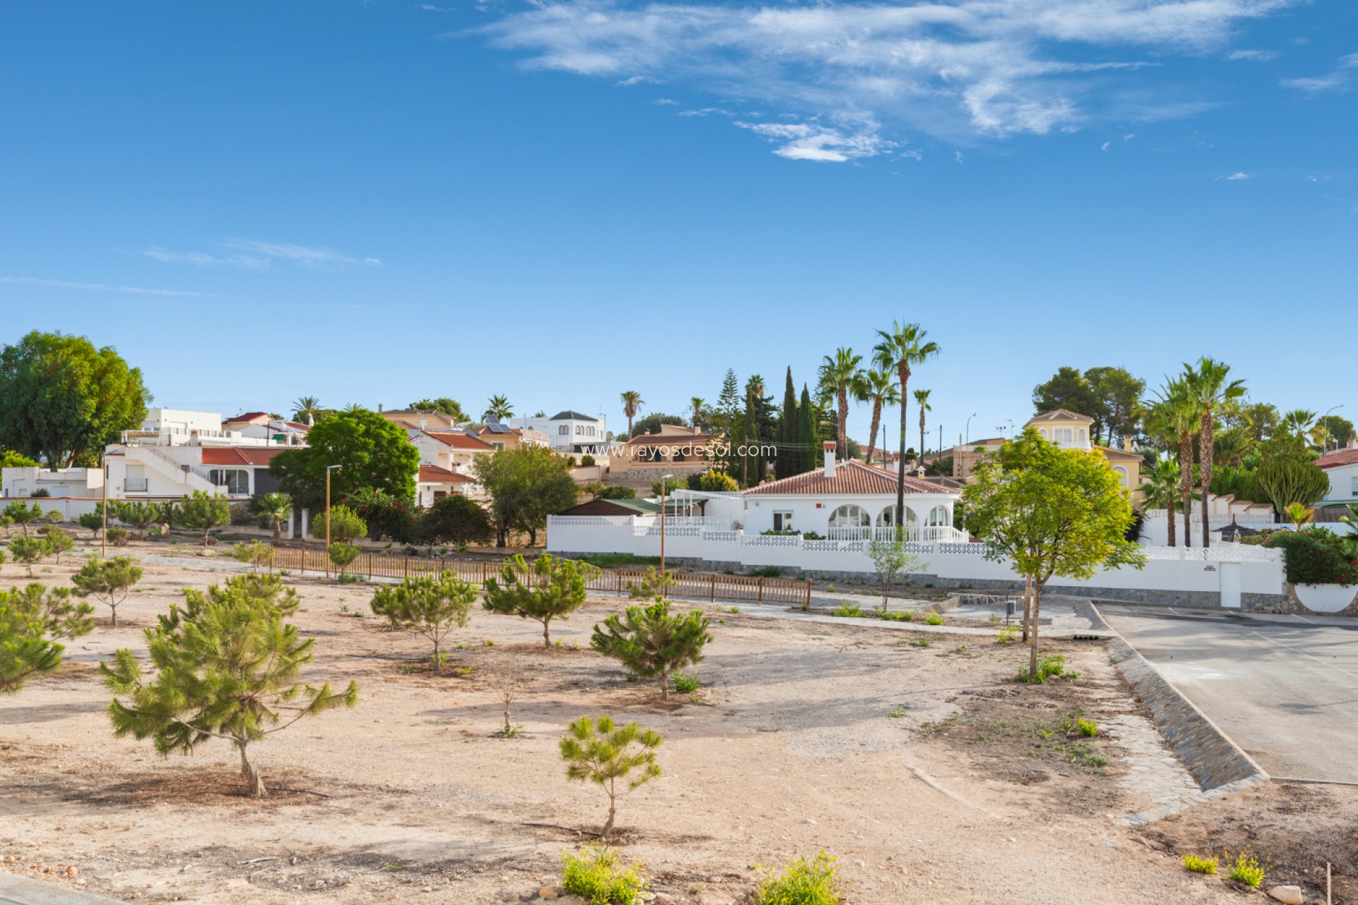
[[[273,567],[299,574],[340,571],[322,550],[278,547],[273,551]],[[504,563],[485,559],[428,559],[421,556],[391,556],[361,554],[344,567],[350,575],[367,578],[407,578],[410,575],[437,575],[451,571],[474,585],[485,585],[497,577]],[[626,594],[641,585],[644,569],[599,569],[585,581],[585,588],[599,593]],[[714,573],[669,573],[669,597],[750,604],[809,604],[811,582],[793,578],[763,578],[755,575],[717,575]]]

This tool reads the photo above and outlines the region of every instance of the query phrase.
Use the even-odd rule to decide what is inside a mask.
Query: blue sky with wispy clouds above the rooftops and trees
[[[1063,364],[1358,415],[1312,354],[1358,277],[1340,0],[5,4],[0,80],[0,341],[158,404],[619,418],[900,319],[949,444]]]

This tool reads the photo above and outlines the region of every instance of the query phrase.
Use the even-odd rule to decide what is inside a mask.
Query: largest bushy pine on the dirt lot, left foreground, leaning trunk
[[[311,638],[284,623],[276,609],[243,593],[190,601],[174,624],[147,630],[152,676],[144,676],[128,649],[100,670],[115,697],[109,706],[114,734],[151,738],[162,756],[190,754],[221,738],[240,754],[240,773],[253,798],[268,794],[250,763],[253,742],[333,707],[359,703],[353,681],[342,692],[300,681],[312,658]]]

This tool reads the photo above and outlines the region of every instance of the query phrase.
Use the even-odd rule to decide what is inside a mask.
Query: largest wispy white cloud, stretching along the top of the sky
[[[1100,118],[1200,113],[1156,98],[1114,109],[1135,72],[1219,47],[1237,26],[1300,0],[906,0],[721,7],[536,0],[481,30],[523,65],[687,81],[799,121],[864,114],[959,141],[1074,130]],[[1172,103],[1169,103],[1172,100]],[[770,119],[778,114],[770,114]],[[747,123],[748,125],[748,123]]]

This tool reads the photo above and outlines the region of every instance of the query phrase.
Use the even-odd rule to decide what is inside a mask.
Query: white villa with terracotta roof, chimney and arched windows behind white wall
[[[823,468],[741,494],[747,535],[816,533],[828,540],[894,536],[898,476],[857,460],[837,463],[834,442],[827,442],[824,450]],[[906,476],[904,490],[902,524],[909,540],[967,540],[952,526],[961,498],[952,482]]]

